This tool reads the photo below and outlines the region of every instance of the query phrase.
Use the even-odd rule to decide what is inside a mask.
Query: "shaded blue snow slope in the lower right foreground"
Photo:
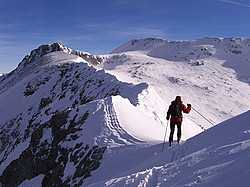
[[[89,186],[247,187],[250,183],[249,117],[250,111],[210,128],[182,145],[175,145],[163,153],[158,150],[150,158],[142,154],[138,160],[131,161],[141,163],[140,160],[144,160],[137,168],[141,170],[135,168],[122,176]],[[156,149],[151,147],[151,153],[148,150],[147,154],[154,151]],[[134,151],[134,154],[138,152]]]

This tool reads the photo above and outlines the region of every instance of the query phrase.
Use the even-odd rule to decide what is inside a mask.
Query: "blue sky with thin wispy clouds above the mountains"
[[[0,0],[0,73],[61,42],[108,54],[135,38],[250,37],[250,0]]]

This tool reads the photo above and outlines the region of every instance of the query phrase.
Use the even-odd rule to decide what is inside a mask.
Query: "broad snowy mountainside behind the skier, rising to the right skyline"
[[[165,111],[176,95],[213,124],[249,110],[248,38],[183,42],[141,39],[130,41],[113,53],[101,67],[123,81],[147,82],[165,101]],[[161,119],[166,115],[158,114]],[[194,110],[183,123],[205,129],[212,126]]]

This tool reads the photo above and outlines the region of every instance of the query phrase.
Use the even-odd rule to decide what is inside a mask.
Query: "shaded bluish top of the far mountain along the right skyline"
[[[203,59],[225,60],[225,67],[237,71],[242,81],[250,83],[249,38],[207,37],[191,41],[166,41],[157,38],[135,39],[118,47],[112,53],[140,51],[148,56],[170,61],[202,63]],[[232,62],[233,61],[233,62]]]

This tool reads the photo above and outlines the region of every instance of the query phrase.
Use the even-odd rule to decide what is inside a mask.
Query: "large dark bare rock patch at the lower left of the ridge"
[[[67,137],[81,131],[82,129],[76,126],[88,118],[88,113],[85,113],[80,122],[71,120],[68,128],[64,128],[68,122],[68,114],[69,111],[59,112],[34,130],[29,147],[4,170],[0,178],[3,186],[15,187],[26,179],[32,179],[40,174],[44,175],[42,186],[70,186],[68,183],[76,178],[79,182],[75,185],[79,186],[85,178],[91,176],[91,172],[100,166],[106,147],[90,147],[83,143],[76,144],[73,149],[60,146],[62,142],[71,141]],[[47,139],[42,140],[45,129],[51,129],[51,142]],[[72,162],[76,170],[71,179],[63,181],[62,177],[68,162]]]

